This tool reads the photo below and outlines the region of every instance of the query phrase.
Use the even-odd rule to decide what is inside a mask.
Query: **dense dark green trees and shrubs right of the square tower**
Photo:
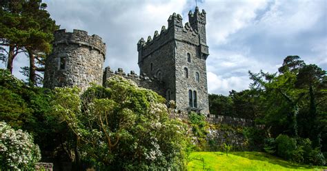
[[[261,146],[267,138],[267,152],[300,163],[324,164],[326,71],[315,64],[307,65],[297,56],[288,56],[279,72],[249,74],[253,81],[250,90],[232,90],[228,97],[210,94],[210,112],[264,124],[266,133],[252,137],[257,137]],[[310,143],[303,145],[303,139]]]

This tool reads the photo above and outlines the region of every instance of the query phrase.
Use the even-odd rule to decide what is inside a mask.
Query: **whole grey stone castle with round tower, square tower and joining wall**
[[[103,71],[106,44],[101,37],[83,30],[57,30],[54,32],[52,54],[46,61],[44,87],[79,86],[86,88],[91,82],[104,85],[112,75],[119,74],[135,81],[138,86],[154,90],[167,101],[173,100],[177,110],[193,110],[209,114],[206,59],[206,12],[195,8],[188,13],[183,25],[180,14],[172,14],[168,28],[162,26],[137,43],[140,75],[126,74],[109,67]]]

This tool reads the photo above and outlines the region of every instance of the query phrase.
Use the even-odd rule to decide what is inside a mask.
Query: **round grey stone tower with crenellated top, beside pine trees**
[[[101,37],[83,30],[57,30],[54,32],[52,54],[46,59],[44,87],[102,84],[102,67],[106,57],[106,44]]]

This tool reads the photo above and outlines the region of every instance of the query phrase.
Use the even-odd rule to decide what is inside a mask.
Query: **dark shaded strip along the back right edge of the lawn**
[[[290,169],[313,169],[313,167],[310,167],[309,165],[300,165],[297,163],[290,163],[288,161],[284,161],[284,159],[281,159],[279,157],[274,157],[270,154],[266,154],[264,152],[230,152],[230,154],[233,154],[235,156],[244,157],[246,159],[250,160],[257,160],[257,161],[267,161],[268,163],[272,163],[274,165],[281,165],[284,168],[290,168]],[[321,168],[319,166],[315,166],[315,168]]]

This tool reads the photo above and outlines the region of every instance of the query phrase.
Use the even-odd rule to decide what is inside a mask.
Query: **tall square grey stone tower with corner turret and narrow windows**
[[[157,77],[164,83],[164,97],[174,100],[179,110],[209,113],[206,59],[206,12],[195,8],[188,14],[189,23],[182,23],[179,14],[168,19],[168,28],[162,26],[137,43],[140,74]]]

